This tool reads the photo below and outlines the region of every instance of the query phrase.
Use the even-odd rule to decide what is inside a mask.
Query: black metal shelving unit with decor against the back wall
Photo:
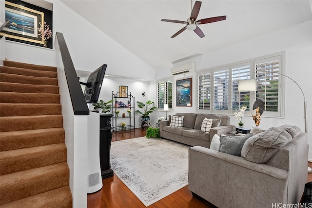
[[[135,130],[135,97],[129,94],[126,94],[126,97],[120,97],[120,93],[117,92],[114,94],[112,91],[112,97],[114,100],[114,107],[113,107],[113,131],[134,131]],[[126,106],[120,106],[120,102],[125,104]],[[116,104],[118,103],[118,105]],[[127,112],[130,110],[131,114]],[[116,112],[119,111],[117,116]],[[122,117],[122,113],[125,113],[125,117]],[[121,122],[126,123],[124,127],[120,125]]]

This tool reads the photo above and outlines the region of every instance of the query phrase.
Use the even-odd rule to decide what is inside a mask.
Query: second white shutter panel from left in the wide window
[[[229,70],[214,72],[214,110],[229,109]]]

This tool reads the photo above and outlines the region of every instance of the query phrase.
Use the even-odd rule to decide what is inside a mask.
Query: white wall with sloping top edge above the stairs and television
[[[155,70],[59,0],[53,3],[53,38],[64,35],[76,70],[94,71],[107,64],[108,74],[154,80]],[[4,8],[1,0],[0,8]],[[109,20],[107,20],[109,21]],[[54,50],[6,41],[9,60],[54,66]],[[27,52],[25,52],[27,51]]]

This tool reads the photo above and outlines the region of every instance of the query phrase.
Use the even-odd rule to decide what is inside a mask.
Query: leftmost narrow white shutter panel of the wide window
[[[210,109],[211,75],[210,73],[198,75],[198,109]]]

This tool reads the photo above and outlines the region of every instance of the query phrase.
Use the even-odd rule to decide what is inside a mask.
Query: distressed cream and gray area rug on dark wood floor
[[[111,167],[147,207],[188,184],[189,146],[140,137],[111,144]]]

